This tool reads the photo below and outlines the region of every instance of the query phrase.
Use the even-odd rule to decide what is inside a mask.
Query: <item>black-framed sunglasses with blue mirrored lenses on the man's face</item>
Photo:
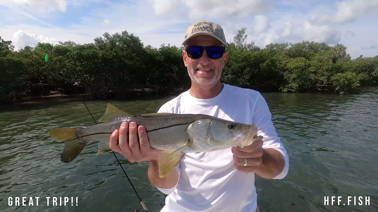
[[[202,57],[203,51],[206,49],[206,53],[210,59],[219,59],[223,57],[223,53],[226,50],[224,46],[186,46],[185,51],[188,57],[198,59]]]

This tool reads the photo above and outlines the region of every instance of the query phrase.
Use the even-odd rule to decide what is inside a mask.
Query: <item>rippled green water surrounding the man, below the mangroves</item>
[[[378,211],[378,88],[358,95],[263,96],[287,148],[290,170],[283,180],[257,177],[260,211]],[[98,120],[107,102],[140,114],[156,112],[171,98],[86,103]],[[140,208],[112,154],[96,156],[97,146],[91,145],[75,161],[64,164],[60,162],[64,145],[46,133],[58,127],[92,124],[78,98],[1,107],[0,211],[133,212]],[[163,195],[147,179],[148,164],[129,163],[116,155],[149,211],[159,211]],[[324,196],[342,196],[346,205],[325,206]],[[348,206],[348,196],[370,196],[370,206]],[[40,197],[39,206],[35,200],[34,206],[22,206],[22,201],[21,206],[8,206],[8,197]],[[52,206],[50,199],[47,206],[45,197],[74,197],[74,205],[70,200],[67,206]]]

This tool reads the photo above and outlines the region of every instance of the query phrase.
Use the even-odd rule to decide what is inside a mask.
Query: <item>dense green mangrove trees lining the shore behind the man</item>
[[[260,49],[253,41],[247,44],[247,38],[242,28],[228,43],[222,82],[258,91],[340,94],[378,85],[378,55],[351,60],[344,45],[314,41],[271,43]],[[127,31],[105,32],[84,45],[68,40],[54,46],[38,43],[19,51],[0,37],[0,99],[50,91],[85,93],[92,99],[127,98],[148,90],[177,94],[190,86],[182,54],[182,47],[144,46]]]

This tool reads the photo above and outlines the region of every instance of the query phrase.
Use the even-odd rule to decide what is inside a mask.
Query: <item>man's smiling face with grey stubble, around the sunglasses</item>
[[[187,41],[186,46],[223,46],[216,38],[208,35],[200,35]],[[184,64],[188,69],[188,74],[194,83],[200,85],[216,84],[220,81],[222,69],[226,65],[228,52],[219,59],[210,59],[206,50],[198,59],[187,56],[183,51]]]

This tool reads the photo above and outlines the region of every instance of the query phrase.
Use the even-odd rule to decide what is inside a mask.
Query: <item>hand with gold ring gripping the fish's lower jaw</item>
[[[243,148],[239,146],[232,147],[231,151],[234,154],[234,166],[236,169],[246,174],[256,172],[262,163],[262,144],[263,141],[258,140]]]

